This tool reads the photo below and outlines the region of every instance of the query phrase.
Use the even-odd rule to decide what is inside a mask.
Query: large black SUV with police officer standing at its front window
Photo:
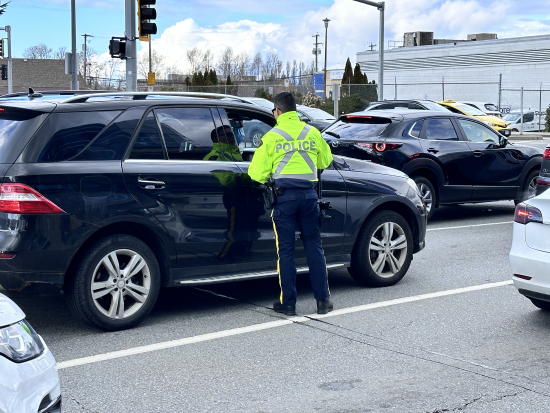
[[[161,286],[277,276],[270,211],[247,175],[254,149],[236,145],[249,121],[275,124],[257,106],[185,95],[0,99],[0,284],[57,286],[81,320],[117,330]],[[322,179],[327,268],[399,281],[424,247],[414,182],[342,157]],[[296,264],[308,271],[299,234]]]

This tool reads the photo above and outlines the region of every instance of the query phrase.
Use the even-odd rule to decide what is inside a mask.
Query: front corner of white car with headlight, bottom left
[[[55,359],[25,313],[0,293],[0,413],[60,413]]]

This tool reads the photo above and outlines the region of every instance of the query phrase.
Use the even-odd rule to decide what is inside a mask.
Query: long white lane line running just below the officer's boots
[[[372,310],[374,308],[388,307],[397,304],[411,303],[414,301],[428,300],[431,298],[444,297],[454,294],[462,294],[471,291],[485,290],[488,288],[502,287],[504,285],[512,284],[512,281],[501,281],[496,283],[474,285],[471,287],[456,288],[454,290],[439,291],[436,293],[428,293],[421,295],[413,295],[410,297],[397,298],[395,300],[381,301],[372,304],[359,305],[355,307],[343,308],[341,310],[335,310],[328,314],[311,314],[303,317],[291,317],[284,320],[270,321],[262,324],[254,324],[247,327],[233,328],[231,330],[223,330],[215,333],[201,334],[199,336],[182,338],[179,340],[164,341],[156,344],[149,344],[141,347],[129,348],[127,350],[113,351],[111,353],[97,354],[95,356],[82,357],[74,360],[67,360],[57,363],[57,369],[67,369],[70,367],[82,366],[85,364],[97,363],[100,361],[113,360],[121,357],[133,356],[136,354],[149,353],[151,351],[165,350],[168,348],[186,346],[188,344],[200,343],[203,341],[211,341],[224,337],[237,336],[240,334],[252,333],[254,331],[268,330],[271,328],[282,327],[294,323],[303,323],[310,319],[321,319],[328,317],[335,317],[343,314],[351,314],[359,311]]]

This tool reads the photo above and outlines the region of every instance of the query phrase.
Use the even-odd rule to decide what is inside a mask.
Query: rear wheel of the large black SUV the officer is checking
[[[130,235],[111,235],[81,257],[65,289],[71,312],[86,324],[123,330],[152,310],[160,269],[151,249]]]

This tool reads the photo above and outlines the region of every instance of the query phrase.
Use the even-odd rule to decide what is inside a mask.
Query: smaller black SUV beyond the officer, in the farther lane
[[[435,111],[366,111],[323,131],[337,155],[386,165],[417,183],[429,216],[442,204],[534,196],[540,149],[511,144],[470,116]]]

